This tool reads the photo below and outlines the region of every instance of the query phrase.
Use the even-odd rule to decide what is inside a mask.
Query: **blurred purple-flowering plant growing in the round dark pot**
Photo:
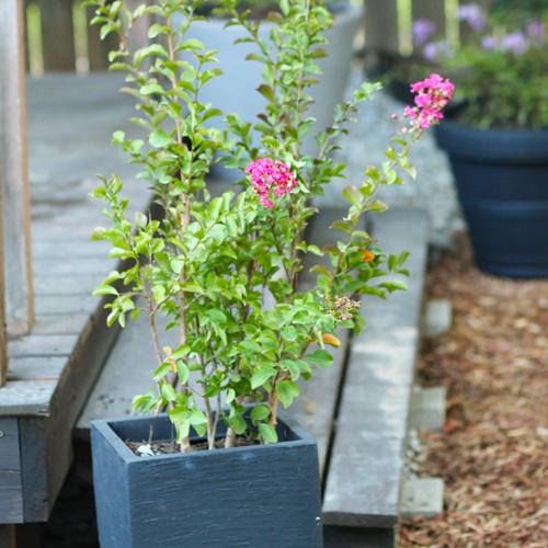
[[[436,35],[433,22],[414,23],[415,55],[395,75],[411,81],[443,71],[457,83],[458,118],[480,128],[548,126],[548,8],[506,2],[488,16],[478,4],[458,8],[470,30],[460,47]]]

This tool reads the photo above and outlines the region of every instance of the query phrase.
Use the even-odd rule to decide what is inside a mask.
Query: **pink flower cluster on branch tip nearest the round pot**
[[[414,98],[416,106],[406,106],[403,117],[412,119],[411,125],[418,127],[430,127],[439,122],[444,115],[442,110],[452,96],[455,85],[449,79],[444,80],[439,75],[431,75],[423,82],[411,85],[411,91],[418,93]]]

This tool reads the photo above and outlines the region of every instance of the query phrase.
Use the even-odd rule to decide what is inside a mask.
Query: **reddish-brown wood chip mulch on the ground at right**
[[[424,342],[418,378],[447,388],[420,472],[445,480],[445,511],[404,522],[400,548],[547,548],[548,281],[480,273],[463,237],[425,290],[454,312],[450,331]]]

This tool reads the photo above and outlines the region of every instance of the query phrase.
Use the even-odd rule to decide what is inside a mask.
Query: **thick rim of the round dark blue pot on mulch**
[[[478,129],[442,119],[434,127],[437,144],[449,156],[480,163],[545,163],[547,129]]]

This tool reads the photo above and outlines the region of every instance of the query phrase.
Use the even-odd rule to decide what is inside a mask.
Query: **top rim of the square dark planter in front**
[[[231,447],[228,449],[216,449],[216,450],[198,450],[198,452],[191,452],[191,453],[173,453],[169,455],[141,455],[137,456],[134,454],[132,449],[125,444],[124,439],[122,439],[118,434],[114,431],[112,426],[115,426],[118,423],[124,423],[128,421],[150,421],[153,419],[165,419],[170,420],[168,413],[160,413],[158,414],[157,418],[153,416],[126,416],[126,418],[121,418],[121,419],[101,419],[96,421],[91,422],[91,427],[98,430],[105,439],[109,439],[113,448],[116,450],[118,456],[127,461],[128,464],[130,463],[142,463],[144,460],[152,460],[152,461],[161,461],[161,460],[169,460],[172,458],[206,458],[208,455],[212,454],[222,454],[222,455],[231,455],[235,452],[239,453],[242,450],[269,450],[270,447],[277,447],[281,445],[292,447],[294,445],[302,445],[304,443],[313,443],[316,444],[316,438],[309,434],[297,421],[292,419],[290,416],[287,415],[286,412],[283,410],[278,410],[278,423],[285,424],[289,430],[296,434],[298,439],[290,439],[290,441],[278,441],[275,444],[262,444],[262,445],[251,445],[251,446],[243,446],[243,447]],[[203,439],[206,441],[206,437],[199,437],[198,435],[194,434],[190,436],[191,441],[197,441],[197,439]]]

